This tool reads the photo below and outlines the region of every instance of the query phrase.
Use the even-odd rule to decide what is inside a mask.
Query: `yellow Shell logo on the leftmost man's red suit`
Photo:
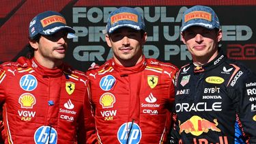
[[[18,103],[21,108],[33,109],[33,105],[35,105],[35,97],[31,93],[23,93],[20,98],[18,98]]]

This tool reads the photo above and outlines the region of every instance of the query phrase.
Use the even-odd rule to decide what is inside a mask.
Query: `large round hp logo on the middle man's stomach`
[[[139,141],[141,141],[141,136],[141,128],[139,128],[139,125],[134,122],[122,124],[117,132],[117,138],[121,144],[139,143]]]

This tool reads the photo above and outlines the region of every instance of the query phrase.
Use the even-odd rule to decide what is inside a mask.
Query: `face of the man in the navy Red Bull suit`
[[[208,63],[218,55],[218,42],[221,41],[222,31],[193,26],[182,32],[182,42],[186,44],[193,61],[203,60]]]

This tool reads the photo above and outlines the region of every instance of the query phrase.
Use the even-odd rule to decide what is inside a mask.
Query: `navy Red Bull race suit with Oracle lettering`
[[[256,76],[242,63],[222,53],[190,63],[175,86],[176,143],[256,143]]]

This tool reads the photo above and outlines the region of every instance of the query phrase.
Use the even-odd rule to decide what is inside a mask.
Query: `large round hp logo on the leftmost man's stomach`
[[[36,144],[41,143],[57,143],[57,131],[55,128],[50,126],[40,126],[37,130],[35,130],[35,134],[33,139]]]

